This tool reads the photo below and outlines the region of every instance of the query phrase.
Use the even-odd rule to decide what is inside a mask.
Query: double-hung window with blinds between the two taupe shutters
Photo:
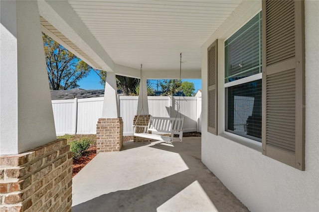
[[[225,41],[225,130],[261,142],[261,12]]]

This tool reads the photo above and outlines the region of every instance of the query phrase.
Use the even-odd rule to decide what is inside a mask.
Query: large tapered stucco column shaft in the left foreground
[[[0,1],[0,154],[56,139],[37,1]]]

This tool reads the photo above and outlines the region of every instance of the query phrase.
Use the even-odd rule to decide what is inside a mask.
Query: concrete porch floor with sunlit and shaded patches
[[[201,138],[125,142],[74,178],[73,212],[246,212],[200,161]]]

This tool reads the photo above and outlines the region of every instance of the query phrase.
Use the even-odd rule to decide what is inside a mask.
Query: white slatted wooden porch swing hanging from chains
[[[167,142],[182,141],[183,124],[184,117],[164,118],[151,116],[148,126],[133,125],[134,136]],[[144,128],[143,133],[136,133],[138,127]],[[164,136],[163,134],[170,134],[170,136]],[[178,135],[178,138],[174,138],[174,135]]]

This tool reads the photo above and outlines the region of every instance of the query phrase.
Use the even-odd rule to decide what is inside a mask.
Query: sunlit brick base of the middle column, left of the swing
[[[96,125],[96,153],[120,151],[122,146],[122,118],[99,119]]]

